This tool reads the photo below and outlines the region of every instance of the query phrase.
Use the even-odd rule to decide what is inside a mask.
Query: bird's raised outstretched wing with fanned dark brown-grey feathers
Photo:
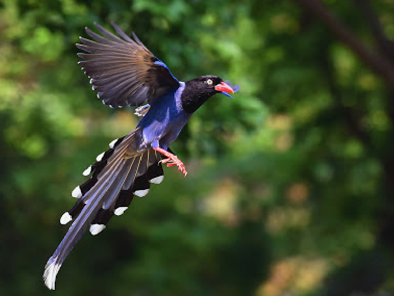
[[[164,62],[134,33],[133,40],[112,23],[120,38],[99,24],[94,26],[103,36],[85,28],[95,41],[80,37],[82,44],[76,47],[86,53],[78,53],[84,59],[78,63],[104,104],[111,107],[135,106],[145,101],[152,104],[156,98],[180,86]]]

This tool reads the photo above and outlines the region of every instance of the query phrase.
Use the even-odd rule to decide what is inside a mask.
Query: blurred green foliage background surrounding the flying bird
[[[0,1],[0,295],[392,295],[394,1]],[[137,123],[77,65],[97,21],[220,75],[165,168],[42,282],[83,170]]]

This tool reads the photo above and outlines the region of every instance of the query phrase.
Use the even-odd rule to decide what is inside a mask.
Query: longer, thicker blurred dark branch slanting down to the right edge
[[[373,72],[377,73],[390,86],[394,86],[394,68],[385,56],[371,52],[361,41],[354,37],[341,21],[326,7],[321,0],[293,0],[309,10],[354,52]]]

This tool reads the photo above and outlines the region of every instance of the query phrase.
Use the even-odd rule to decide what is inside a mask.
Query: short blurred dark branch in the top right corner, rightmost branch
[[[391,62],[394,62],[394,42],[389,40],[383,32],[382,25],[379,18],[373,11],[369,0],[354,0],[357,7],[360,8],[366,17],[371,28],[372,36],[375,39],[380,51],[388,57]]]

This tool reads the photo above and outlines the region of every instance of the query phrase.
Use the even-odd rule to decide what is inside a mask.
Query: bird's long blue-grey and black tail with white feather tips
[[[113,215],[123,214],[133,195],[142,197],[148,193],[150,183],[163,180],[160,154],[152,148],[137,151],[140,140],[141,129],[114,140],[110,149],[84,171],[84,175],[92,176],[73,190],[72,196],[78,200],[60,222],[75,220],[45,266],[43,278],[49,289],[55,289],[57,272],[89,226],[92,235],[98,234]]]

